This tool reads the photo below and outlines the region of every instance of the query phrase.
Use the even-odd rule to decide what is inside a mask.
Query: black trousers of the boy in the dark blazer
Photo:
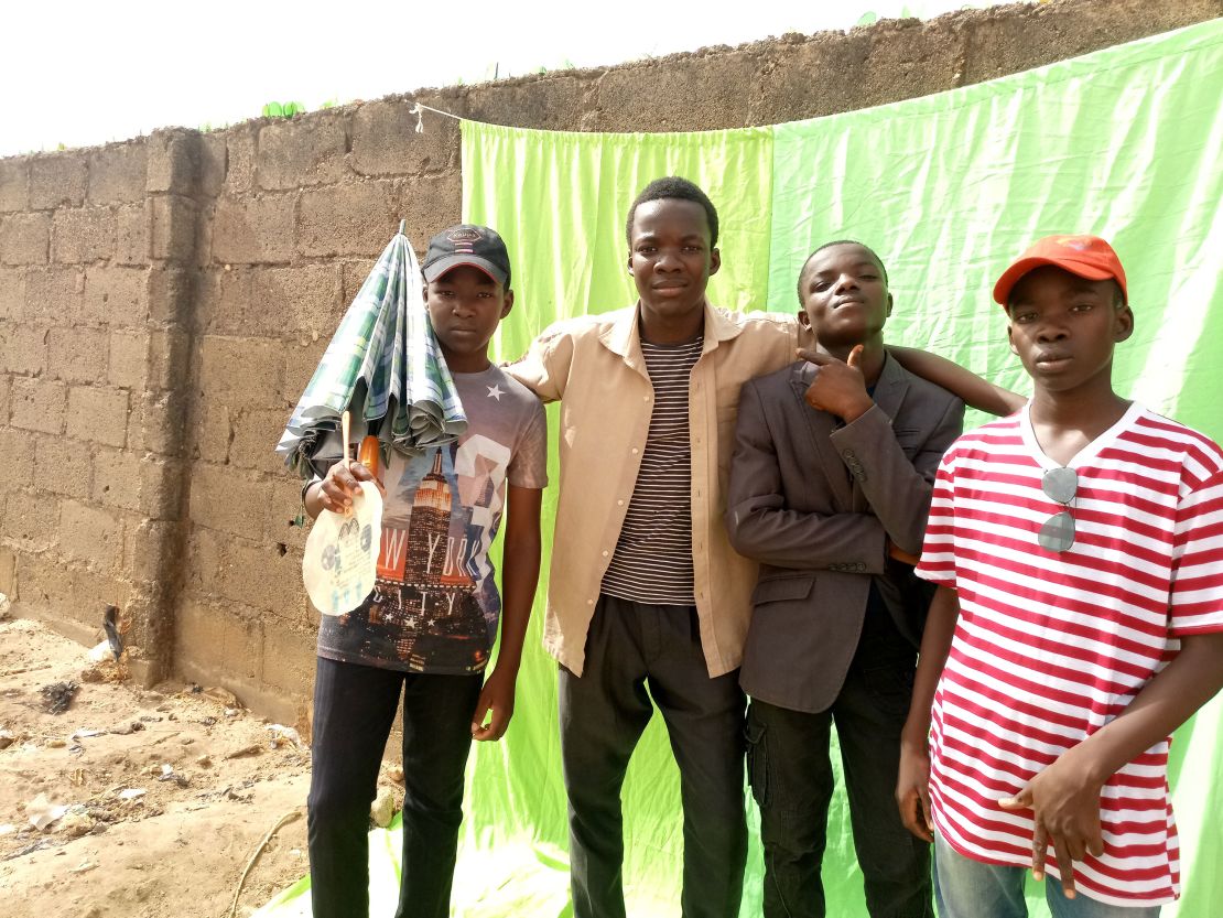
[[[904,827],[895,803],[915,651],[894,636],[860,646],[827,711],[806,714],[751,701],[747,772],[761,809],[766,918],[826,914],[819,870],[833,796],[833,723],[871,917],[934,916],[929,846]]]

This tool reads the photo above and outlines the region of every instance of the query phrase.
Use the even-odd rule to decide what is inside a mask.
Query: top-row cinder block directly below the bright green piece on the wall
[[[347,171],[345,121],[342,113],[320,113],[259,129],[259,187],[283,191],[340,181]]]

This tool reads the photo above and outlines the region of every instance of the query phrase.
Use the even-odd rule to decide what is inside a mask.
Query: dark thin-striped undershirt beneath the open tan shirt
[[[603,592],[630,602],[691,606],[692,446],[689,382],[703,338],[685,344],[641,343],[654,409],[641,469]]]

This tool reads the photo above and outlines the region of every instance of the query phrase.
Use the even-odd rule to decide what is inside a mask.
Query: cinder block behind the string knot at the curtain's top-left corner
[[[532,83],[538,88],[538,83]],[[352,168],[362,175],[419,175],[444,169],[459,149],[459,122],[426,113],[416,132],[407,99],[367,102],[352,115]]]

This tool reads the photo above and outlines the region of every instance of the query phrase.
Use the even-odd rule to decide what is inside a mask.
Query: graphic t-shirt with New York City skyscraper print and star
[[[322,657],[438,674],[488,663],[501,611],[488,550],[506,482],[547,483],[548,431],[539,400],[499,368],[454,379],[467,432],[419,455],[391,450],[377,584],[352,612],[323,617]]]

